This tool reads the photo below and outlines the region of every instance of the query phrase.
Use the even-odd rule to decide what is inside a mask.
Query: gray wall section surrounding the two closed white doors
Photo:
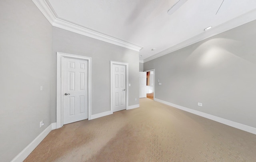
[[[53,27],[52,107],[56,104],[56,52],[92,57],[92,114],[110,110],[110,61],[129,64],[129,106],[139,104],[139,54],[114,44]],[[134,61],[138,60],[138,61]],[[137,98],[137,101],[135,101]],[[56,109],[52,109],[56,121]]]

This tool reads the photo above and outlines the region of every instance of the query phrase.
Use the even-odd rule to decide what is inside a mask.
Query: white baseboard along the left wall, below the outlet
[[[43,132],[41,132],[26,148],[22,150],[11,162],[23,162],[28,155],[42,142],[42,140],[51,132],[56,129],[56,123],[50,124]]]

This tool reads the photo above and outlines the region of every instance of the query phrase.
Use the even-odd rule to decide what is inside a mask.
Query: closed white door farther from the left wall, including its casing
[[[110,73],[110,110],[125,110],[128,108],[128,64],[111,61]]]

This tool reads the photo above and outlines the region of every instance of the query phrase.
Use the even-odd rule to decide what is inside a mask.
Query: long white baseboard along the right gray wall
[[[190,112],[192,114],[196,114],[196,115],[199,115],[199,116],[202,116],[204,118],[208,118],[210,120],[214,120],[216,122],[220,122],[222,124],[226,124],[228,126],[232,126],[234,128],[238,128],[240,130],[244,130],[246,132],[249,132],[249,133],[252,133],[252,134],[256,134],[256,128],[254,127],[251,127],[251,126],[247,126],[247,125],[244,125],[244,124],[240,124],[240,123],[237,123],[237,122],[233,122],[231,120],[227,120],[227,119],[224,119],[224,118],[220,118],[218,116],[214,116],[214,115],[210,115],[210,114],[206,114],[204,112],[200,112],[200,111],[197,111],[197,110],[193,110],[193,109],[190,109],[190,108],[186,108],[186,107],[183,107],[183,106],[179,106],[179,105],[176,105],[176,104],[172,104],[170,102],[166,102],[166,101],[163,101],[163,100],[160,100],[160,99],[157,99],[155,98],[155,101],[157,102],[161,102],[163,104],[167,104],[169,106],[172,106],[172,107],[175,107],[175,108],[178,108],[180,110],[184,110],[186,112]]]

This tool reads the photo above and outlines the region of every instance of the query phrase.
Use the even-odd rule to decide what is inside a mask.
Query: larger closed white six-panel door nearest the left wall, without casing
[[[88,118],[88,60],[64,58],[64,124]]]

